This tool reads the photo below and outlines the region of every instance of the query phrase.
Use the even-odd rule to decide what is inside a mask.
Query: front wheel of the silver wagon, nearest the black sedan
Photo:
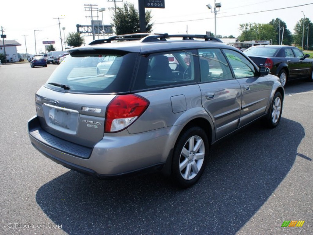
[[[268,117],[266,118],[265,124],[267,125],[267,127],[274,128],[278,125],[278,123],[280,122],[282,109],[283,97],[281,93],[277,91],[273,97]]]

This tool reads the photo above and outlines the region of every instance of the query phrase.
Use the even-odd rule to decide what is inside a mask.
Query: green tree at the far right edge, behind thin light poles
[[[304,32],[303,32],[303,18],[301,18],[296,24],[295,24],[295,34],[293,35],[294,43],[296,46],[302,46],[302,35],[303,35],[303,48],[306,49],[306,42],[307,42],[307,36],[308,36],[308,28],[309,27],[309,43],[308,43],[308,49],[312,49],[313,45],[313,24],[310,21],[309,18],[305,18],[304,21]]]

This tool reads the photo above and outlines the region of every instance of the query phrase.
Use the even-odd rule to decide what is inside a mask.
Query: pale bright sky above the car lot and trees
[[[3,34],[7,35],[6,40],[16,40],[22,44],[17,47],[18,53],[26,53],[27,47],[28,54],[35,54],[35,35],[37,53],[45,52],[43,41],[54,40],[56,50],[61,50],[58,18],[61,23],[61,37],[64,40],[64,34],[66,37],[68,33],[76,32],[76,24],[91,24],[90,11],[85,11],[85,7],[88,6],[84,4],[94,4],[96,5],[92,6],[94,8],[106,8],[103,12],[103,21],[104,24],[111,24],[113,10],[109,8],[114,7],[112,1],[6,0],[0,4],[0,27],[3,27]],[[119,1],[116,2],[116,6],[121,7],[125,2],[129,2],[138,8],[138,0],[116,1]],[[275,18],[284,21],[291,33],[294,33],[295,24],[304,17],[303,14],[313,22],[312,0],[216,0],[216,2],[221,3],[216,15],[216,33],[222,36],[238,37],[241,33],[239,24],[266,24]],[[206,34],[207,31],[214,33],[214,13],[206,7],[208,3],[214,6],[214,0],[165,0],[164,9],[146,8],[151,10],[153,16],[152,32],[185,34],[188,30],[188,34]],[[98,20],[102,20],[101,13],[98,16]],[[62,30],[63,27],[65,30]],[[103,38],[102,35],[99,37]],[[92,36],[84,39],[86,44],[93,40]]]

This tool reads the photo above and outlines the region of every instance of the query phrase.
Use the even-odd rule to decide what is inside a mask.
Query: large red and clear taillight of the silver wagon
[[[149,104],[148,100],[139,95],[116,96],[106,108],[104,131],[118,132],[129,127],[145,112]]]

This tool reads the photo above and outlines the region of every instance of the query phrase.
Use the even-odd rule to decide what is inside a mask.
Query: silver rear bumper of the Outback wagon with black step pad
[[[132,135],[124,130],[125,135],[105,135],[93,148],[87,148],[47,133],[37,116],[28,121],[30,141],[40,153],[71,170],[98,178],[161,170],[172,150],[168,139],[173,128],[180,127]]]

